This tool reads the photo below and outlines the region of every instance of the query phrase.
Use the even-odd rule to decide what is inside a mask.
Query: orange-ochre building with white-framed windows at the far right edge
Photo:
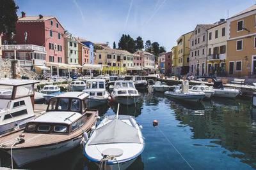
[[[229,76],[256,74],[256,5],[227,19],[227,72]]]

